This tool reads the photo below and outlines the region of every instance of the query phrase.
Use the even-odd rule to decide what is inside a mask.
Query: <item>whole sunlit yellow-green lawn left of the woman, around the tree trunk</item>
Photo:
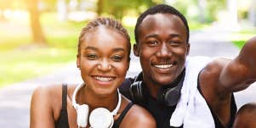
[[[56,17],[41,16],[47,47],[31,45],[28,23],[5,22],[8,27],[0,26],[0,87],[48,74],[76,60],[77,38],[86,23],[59,22]]]

